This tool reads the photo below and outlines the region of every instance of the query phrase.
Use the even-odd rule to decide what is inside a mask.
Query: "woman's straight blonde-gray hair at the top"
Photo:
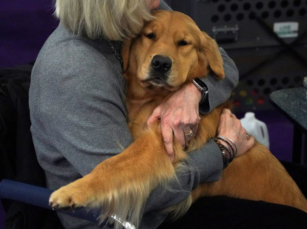
[[[91,39],[134,37],[153,18],[146,0],[56,0],[55,8],[65,28]]]

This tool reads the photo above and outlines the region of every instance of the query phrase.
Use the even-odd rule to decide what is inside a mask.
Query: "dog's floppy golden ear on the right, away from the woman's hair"
[[[205,55],[208,61],[208,66],[214,73],[215,78],[223,80],[225,78],[223,59],[218,50],[217,43],[205,32],[202,32],[202,35],[201,52]]]

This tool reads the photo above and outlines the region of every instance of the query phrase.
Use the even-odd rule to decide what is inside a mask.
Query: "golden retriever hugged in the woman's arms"
[[[224,78],[216,42],[201,32],[190,17],[174,11],[156,11],[154,16],[141,34],[125,41],[122,48],[128,121],[134,142],[122,153],[101,162],[90,174],[52,193],[53,208],[102,207],[102,219],[116,214],[138,226],[150,192],[159,185],[167,189],[168,182],[176,179],[176,170],[184,169],[182,162],[187,153],[216,136],[220,114],[229,103],[201,115],[198,131],[185,149],[173,141],[172,163],[164,148],[159,121],[146,127],[153,109],[185,83],[206,76],[209,71],[218,80]],[[157,70],[157,57],[171,64]],[[293,179],[272,153],[257,142],[229,164],[220,180],[200,184],[186,200],[164,211],[179,216],[196,199],[217,195],[264,200],[307,212],[307,201]]]

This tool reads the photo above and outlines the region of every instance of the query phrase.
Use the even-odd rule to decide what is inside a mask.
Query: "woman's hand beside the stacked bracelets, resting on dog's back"
[[[224,109],[220,117],[220,124],[217,128],[217,136],[225,136],[231,139],[237,147],[236,157],[246,153],[255,143],[253,136],[247,138],[246,130],[229,109]],[[220,141],[224,146],[226,143]]]

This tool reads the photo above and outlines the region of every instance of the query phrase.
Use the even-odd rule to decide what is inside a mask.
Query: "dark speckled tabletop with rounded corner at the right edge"
[[[273,105],[304,133],[307,133],[307,99],[303,87],[276,90],[270,95]]]

